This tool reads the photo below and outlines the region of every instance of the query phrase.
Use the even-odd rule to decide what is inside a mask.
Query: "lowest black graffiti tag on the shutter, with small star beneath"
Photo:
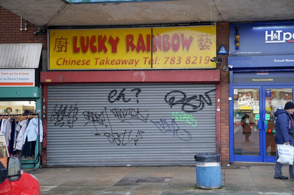
[[[132,131],[126,131],[124,133],[104,133],[110,143],[116,143],[118,146],[125,146],[127,143],[134,142],[137,145],[138,139],[142,139],[143,131],[139,131],[137,133],[132,133]],[[136,135],[135,137],[133,137]]]

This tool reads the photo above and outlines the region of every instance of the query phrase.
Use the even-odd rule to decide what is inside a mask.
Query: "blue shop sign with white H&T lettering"
[[[294,21],[230,23],[230,56],[293,55]],[[236,46],[238,32],[240,46]]]

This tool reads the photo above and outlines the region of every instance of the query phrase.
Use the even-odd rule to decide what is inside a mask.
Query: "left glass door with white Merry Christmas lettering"
[[[261,88],[233,89],[234,161],[262,162]]]

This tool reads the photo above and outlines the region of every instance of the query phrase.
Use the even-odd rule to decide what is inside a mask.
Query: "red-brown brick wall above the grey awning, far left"
[[[25,31],[25,22],[28,23]],[[43,49],[47,49],[47,33],[45,35],[34,35],[36,26],[25,18],[10,12],[0,6],[0,43],[42,43]]]

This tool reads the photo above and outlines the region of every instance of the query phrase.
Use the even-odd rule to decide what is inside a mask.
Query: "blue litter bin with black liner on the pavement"
[[[201,189],[221,188],[220,155],[199,153],[196,161],[196,186]]]

